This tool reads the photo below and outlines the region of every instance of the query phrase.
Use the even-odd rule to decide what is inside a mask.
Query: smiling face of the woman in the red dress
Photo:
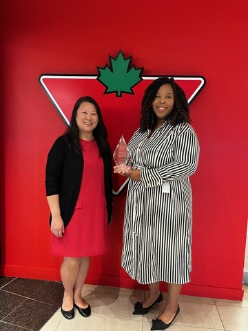
[[[75,120],[79,128],[79,137],[85,140],[94,139],[93,130],[99,122],[99,117],[93,103],[82,102],[76,112]]]

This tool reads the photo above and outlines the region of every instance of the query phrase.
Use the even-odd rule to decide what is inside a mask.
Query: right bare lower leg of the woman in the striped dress
[[[169,323],[172,321],[176,314],[176,310],[178,308],[178,297],[181,288],[182,285],[180,284],[168,284],[168,294],[165,306],[161,314],[158,316],[158,319],[161,319],[164,323]]]

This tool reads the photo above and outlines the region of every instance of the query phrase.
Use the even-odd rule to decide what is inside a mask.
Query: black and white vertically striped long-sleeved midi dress
[[[122,267],[138,283],[183,284],[192,270],[192,189],[199,145],[188,123],[165,122],[152,137],[138,130],[130,139],[130,179],[125,205]]]

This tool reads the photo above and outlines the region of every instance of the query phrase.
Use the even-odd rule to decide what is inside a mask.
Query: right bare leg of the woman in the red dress
[[[90,257],[82,257],[79,265],[79,273],[74,285],[74,303],[80,308],[87,308],[88,303],[82,299],[82,288],[90,267]]]

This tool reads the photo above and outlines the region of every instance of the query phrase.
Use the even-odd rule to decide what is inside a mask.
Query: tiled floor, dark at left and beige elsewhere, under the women
[[[171,331],[247,331],[248,286],[243,285],[242,301],[220,300],[180,295],[180,314],[169,327]],[[143,316],[132,315],[134,302],[142,301],[143,290],[87,285],[83,298],[92,306],[92,316],[85,319],[76,312],[68,321],[62,317],[60,305],[63,285],[55,281],[39,281],[0,277],[1,331],[148,331],[161,305]],[[163,294],[164,298],[166,293]]]

